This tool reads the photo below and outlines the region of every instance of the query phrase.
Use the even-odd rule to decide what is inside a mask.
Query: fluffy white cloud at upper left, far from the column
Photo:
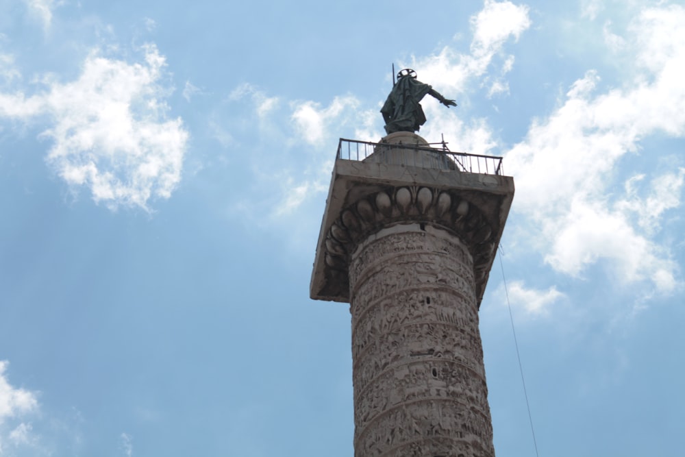
[[[147,210],[150,199],[169,198],[181,179],[188,133],[181,119],[166,119],[164,57],[153,45],[143,50],[144,62],[134,64],[92,51],[73,82],[47,79],[47,90],[29,97],[0,93],[0,116],[51,118],[41,135],[53,140],[48,162],[70,186],[86,186],[110,208]]]

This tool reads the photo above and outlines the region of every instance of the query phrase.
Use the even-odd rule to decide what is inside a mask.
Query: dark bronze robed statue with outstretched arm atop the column
[[[397,73],[397,82],[381,108],[381,114],[386,121],[386,132],[419,132],[419,128],[426,121],[419,101],[426,94],[432,95],[447,108],[457,106],[454,100],[446,99],[431,86],[416,79],[414,70],[404,69]]]

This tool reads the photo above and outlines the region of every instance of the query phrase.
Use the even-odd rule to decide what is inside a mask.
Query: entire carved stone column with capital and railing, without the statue
[[[514,182],[471,160],[409,132],[336,160],[310,295],[350,304],[355,457],[495,454],[478,308]]]

